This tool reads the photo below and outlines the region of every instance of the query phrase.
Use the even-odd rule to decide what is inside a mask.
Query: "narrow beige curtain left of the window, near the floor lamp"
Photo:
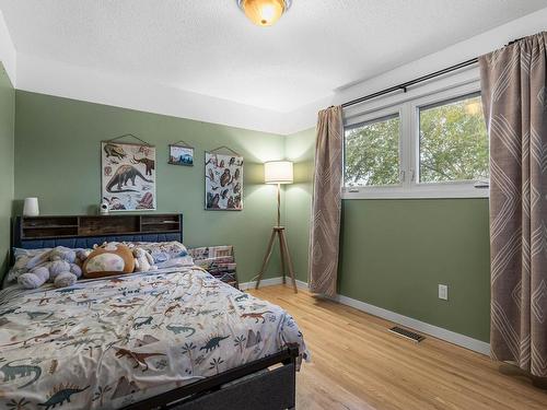
[[[319,112],[310,233],[310,290],[336,294],[342,183],[341,107]]]

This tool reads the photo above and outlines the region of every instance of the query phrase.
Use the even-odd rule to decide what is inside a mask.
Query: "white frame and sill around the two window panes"
[[[399,113],[399,176],[401,183],[391,186],[346,187],[342,179],[342,199],[400,199],[400,198],[488,198],[489,188],[475,187],[476,180],[420,183],[420,108],[449,103],[473,94],[480,95],[477,78],[457,82],[443,79],[412,92],[386,97],[363,105],[359,112],[345,110],[344,161],[346,161],[346,130],[385,117],[385,113]],[[389,115],[389,114],[387,114]],[[344,172],[346,163],[344,163]]]

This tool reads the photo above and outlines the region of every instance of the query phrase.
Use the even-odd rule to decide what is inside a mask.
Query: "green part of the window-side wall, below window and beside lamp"
[[[315,130],[286,139],[299,184],[287,191],[289,241],[307,273]],[[305,272],[305,273],[304,273]],[[488,200],[345,200],[339,292],[431,325],[489,340]],[[449,301],[438,284],[449,285]]]

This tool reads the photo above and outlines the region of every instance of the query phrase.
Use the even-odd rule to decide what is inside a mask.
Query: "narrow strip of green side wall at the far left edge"
[[[14,130],[15,91],[0,62],[0,279],[5,272],[10,249]]]

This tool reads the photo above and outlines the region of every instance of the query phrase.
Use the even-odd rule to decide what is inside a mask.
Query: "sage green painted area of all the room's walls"
[[[12,94],[2,86],[0,98],[9,103]],[[1,118],[12,118],[13,108],[0,115],[0,129],[8,130],[1,143],[10,147],[10,121]],[[296,278],[307,281],[314,129],[283,138],[18,91],[15,213],[28,196],[39,198],[43,214],[95,213],[100,141],[128,132],[158,148],[158,211],[185,214],[188,246],[233,244],[242,282],[258,273],[276,219],[276,187],[264,185],[261,164],[294,161],[294,184],[282,188],[283,223]],[[196,147],[194,167],[167,165],[167,145],[181,139]],[[203,151],[219,145],[245,157],[242,212],[203,210]],[[13,168],[10,155],[5,164]],[[9,173],[0,179],[8,191],[13,184]],[[488,341],[488,200],[345,200],[340,241],[340,294]],[[266,278],[279,271],[275,255]],[[449,285],[449,301],[438,298],[439,283]]]

